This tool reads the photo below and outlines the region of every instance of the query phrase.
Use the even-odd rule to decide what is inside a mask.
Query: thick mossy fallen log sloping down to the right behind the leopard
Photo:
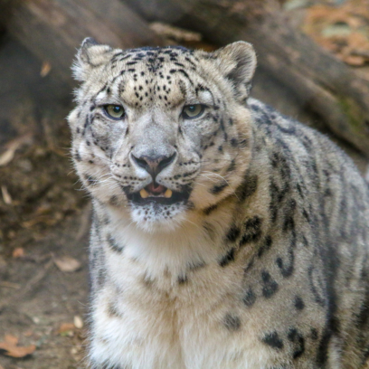
[[[147,21],[252,43],[260,66],[316,112],[336,136],[369,155],[369,83],[289,24],[277,0],[125,0]]]

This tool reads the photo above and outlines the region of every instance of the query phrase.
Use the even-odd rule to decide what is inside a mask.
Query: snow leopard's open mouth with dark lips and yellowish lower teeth
[[[156,182],[153,182],[137,193],[128,194],[128,199],[137,204],[162,203],[170,205],[185,202],[189,196],[189,191],[176,192],[164,185],[158,185]]]

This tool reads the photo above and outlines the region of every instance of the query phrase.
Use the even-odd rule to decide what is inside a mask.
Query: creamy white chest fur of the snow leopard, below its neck
[[[129,369],[268,366],[253,319],[241,330],[232,321],[242,293],[234,281],[243,270],[220,272],[213,241],[200,233],[170,239],[114,226],[110,232],[125,249],[105,251],[108,279],[93,302],[92,362]]]

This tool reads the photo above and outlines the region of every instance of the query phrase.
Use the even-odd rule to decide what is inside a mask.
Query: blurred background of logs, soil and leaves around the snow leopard
[[[65,117],[88,36],[123,49],[253,43],[251,95],[366,172],[368,0],[0,0],[0,369],[84,367],[90,204]]]

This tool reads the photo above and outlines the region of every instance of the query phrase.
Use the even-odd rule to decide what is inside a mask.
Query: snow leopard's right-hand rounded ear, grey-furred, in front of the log
[[[251,80],[256,69],[256,53],[251,43],[238,41],[213,52],[218,68],[225,78],[231,80],[236,94],[248,96]],[[246,89],[246,90],[245,90]]]

